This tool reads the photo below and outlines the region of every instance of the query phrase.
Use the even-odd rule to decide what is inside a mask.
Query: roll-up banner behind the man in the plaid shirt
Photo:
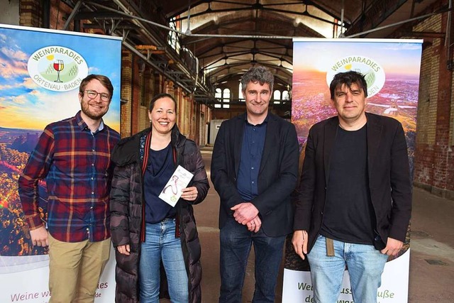
[[[2,303],[50,299],[48,249],[32,246],[18,196],[18,175],[45,126],[79,111],[79,84],[89,74],[111,79],[114,96],[104,123],[119,132],[121,38],[0,24]],[[45,181],[39,183],[39,192],[45,220]],[[114,265],[112,253],[95,302],[114,302]]]

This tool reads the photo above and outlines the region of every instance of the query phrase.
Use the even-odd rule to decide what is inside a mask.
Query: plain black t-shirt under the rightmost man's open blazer
[[[367,177],[367,123],[358,131],[338,127],[321,235],[346,243],[373,244],[374,217]]]

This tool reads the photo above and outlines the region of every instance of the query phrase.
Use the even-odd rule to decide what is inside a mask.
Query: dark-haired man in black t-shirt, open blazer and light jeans
[[[365,112],[360,73],[337,74],[330,91],[338,116],[309,131],[292,243],[308,257],[316,302],[337,302],[345,265],[354,301],[377,302],[384,264],[402,248],[411,214],[404,130]]]

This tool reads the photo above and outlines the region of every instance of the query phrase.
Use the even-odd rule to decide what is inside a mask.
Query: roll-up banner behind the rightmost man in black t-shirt
[[[329,92],[333,76],[355,70],[365,75],[367,82],[366,111],[391,116],[402,123],[413,176],[422,42],[403,39],[294,39],[292,123],[297,128],[300,163],[304,159],[309,128],[337,114]],[[408,302],[409,244],[408,231],[404,248],[384,267],[377,302]],[[294,253],[291,237],[286,243],[282,302],[315,302],[309,264]],[[347,271],[338,302],[353,302]]]

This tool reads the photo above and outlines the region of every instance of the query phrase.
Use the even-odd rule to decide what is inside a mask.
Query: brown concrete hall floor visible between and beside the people
[[[201,151],[206,171],[210,174],[211,148],[202,148]],[[218,302],[220,287],[219,197],[211,182],[210,185],[205,201],[194,206],[202,249],[201,289],[204,303]],[[276,289],[276,303],[282,301],[282,270]],[[243,287],[243,303],[251,302],[253,291],[251,253]],[[454,302],[454,201],[436,197],[419,188],[414,188],[413,196],[409,302]]]

